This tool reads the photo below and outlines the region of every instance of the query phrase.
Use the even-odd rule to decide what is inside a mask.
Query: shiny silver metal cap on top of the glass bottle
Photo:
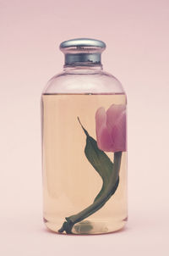
[[[90,38],[71,39],[60,44],[60,50],[65,54],[65,66],[101,65],[101,53],[105,48],[105,42]]]

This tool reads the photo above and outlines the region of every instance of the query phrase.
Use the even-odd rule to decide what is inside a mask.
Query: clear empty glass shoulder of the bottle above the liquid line
[[[100,70],[91,72],[61,72],[54,75],[46,84],[43,94],[56,93],[94,93],[115,94],[124,93],[123,86],[112,74]]]

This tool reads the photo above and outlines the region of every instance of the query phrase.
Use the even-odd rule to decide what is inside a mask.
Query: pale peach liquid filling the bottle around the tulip
[[[44,220],[58,231],[64,218],[88,207],[101,190],[101,176],[85,157],[86,136],[77,117],[95,136],[95,112],[112,103],[126,104],[124,94],[42,96]],[[107,153],[113,161],[113,153]],[[106,204],[73,227],[74,234],[101,234],[123,228],[127,220],[127,153],[123,152],[120,183]]]

